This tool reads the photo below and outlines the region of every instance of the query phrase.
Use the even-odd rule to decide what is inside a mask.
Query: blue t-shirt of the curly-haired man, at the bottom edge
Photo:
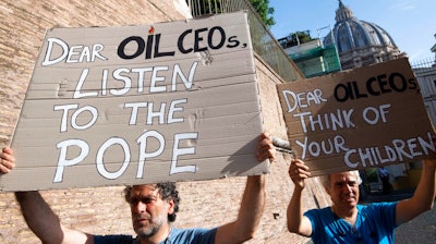
[[[160,244],[214,244],[215,229],[177,229],[172,228],[170,235]],[[132,235],[95,235],[95,244],[137,244]]]

